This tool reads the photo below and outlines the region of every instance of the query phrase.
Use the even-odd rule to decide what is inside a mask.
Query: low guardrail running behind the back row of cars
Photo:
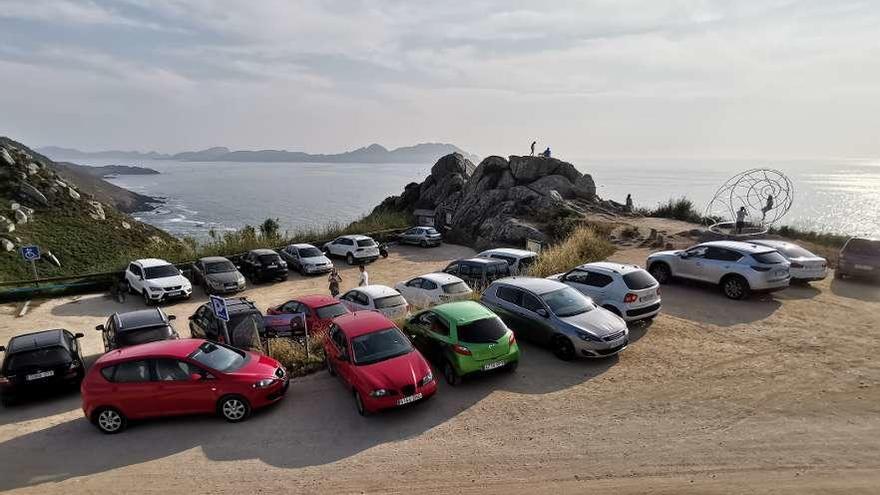
[[[366,232],[363,235],[368,235],[376,239],[377,241],[384,242],[392,236],[403,232],[404,230],[406,230],[406,228],[385,229],[375,232]],[[333,239],[318,239],[302,242],[308,242],[309,244],[321,246],[332,240]],[[280,250],[288,245],[289,244],[283,244],[281,246],[274,247],[273,249]],[[246,253],[243,252],[234,253],[230,255],[225,255],[225,257],[231,260],[235,260],[244,256],[245,254]],[[174,266],[180,268],[181,270],[189,270],[192,264],[196,261],[197,260],[195,259],[182,261],[174,263]],[[89,292],[101,292],[109,290],[114,282],[119,281],[122,278],[123,273],[124,268],[112,272],[87,273],[84,275],[70,275],[64,277],[47,277],[37,280],[15,280],[9,282],[0,282],[0,288],[5,287],[4,289],[0,289],[0,303],[22,301],[34,298],[60,297],[71,294],[84,294]]]

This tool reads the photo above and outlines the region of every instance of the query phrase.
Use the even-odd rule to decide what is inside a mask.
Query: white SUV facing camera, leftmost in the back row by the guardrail
[[[168,299],[189,299],[192,284],[171,263],[156,258],[135,260],[125,269],[125,283],[132,294],[140,294],[144,303]]]

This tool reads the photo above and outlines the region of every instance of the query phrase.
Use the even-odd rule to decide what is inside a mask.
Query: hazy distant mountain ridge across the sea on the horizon
[[[200,151],[176,154],[155,151],[80,151],[73,148],[45,146],[39,152],[56,160],[177,160],[186,162],[312,162],[312,163],[434,163],[450,153],[461,153],[471,161],[479,157],[448,143],[421,143],[389,150],[371,144],[352,151],[335,154],[312,154],[287,150],[230,150],[218,146]]]

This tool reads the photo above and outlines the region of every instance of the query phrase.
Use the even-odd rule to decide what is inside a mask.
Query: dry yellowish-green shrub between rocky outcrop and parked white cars
[[[547,277],[582,263],[604,260],[614,253],[614,245],[592,227],[578,227],[567,239],[541,251],[529,269],[532,277]]]

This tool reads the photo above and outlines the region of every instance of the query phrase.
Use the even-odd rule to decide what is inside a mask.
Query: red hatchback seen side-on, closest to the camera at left
[[[284,396],[287,372],[260,354],[202,339],[163,340],[101,356],[82,382],[86,418],[104,433],[128,420],[217,413],[243,421]]]

